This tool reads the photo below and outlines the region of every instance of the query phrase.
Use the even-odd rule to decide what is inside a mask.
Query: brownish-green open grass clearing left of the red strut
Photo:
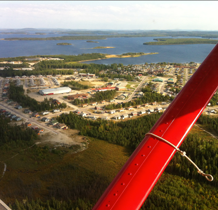
[[[103,180],[111,182],[127,161],[128,151],[94,138],[88,143],[87,150],[74,154],[69,148],[51,151],[47,147],[32,147],[5,161],[7,171],[0,182],[2,199],[5,202],[26,197],[49,199],[58,190],[67,189],[73,193],[71,188],[87,186],[96,176],[96,179],[104,177]],[[19,148],[0,151],[0,159],[5,160],[18,151]]]

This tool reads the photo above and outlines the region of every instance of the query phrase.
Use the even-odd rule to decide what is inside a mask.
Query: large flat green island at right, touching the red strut
[[[156,42],[144,42],[143,45],[173,45],[173,44],[217,44],[218,40],[201,38],[160,38]]]

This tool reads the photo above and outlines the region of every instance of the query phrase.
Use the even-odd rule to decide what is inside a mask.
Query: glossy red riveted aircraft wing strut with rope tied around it
[[[186,83],[150,133],[179,147],[218,87],[218,45]],[[144,203],[176,150],[146,135],[93,210],[136,210]]]

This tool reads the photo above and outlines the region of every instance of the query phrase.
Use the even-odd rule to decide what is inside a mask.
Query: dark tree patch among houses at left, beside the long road
[[[45,98],[43,102],[38,102],[35,99],[24,94],[24,89],[22,86],[15,86],[12,82],[10,83],[9,98],[18,102],[22,107],[29,108],[31,111],[46,111],[53,110],[55,108],[66,108],[65,103],[53,104],[52,98]]]

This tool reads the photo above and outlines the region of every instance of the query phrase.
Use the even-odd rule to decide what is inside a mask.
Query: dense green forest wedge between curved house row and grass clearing
[[[102,139],[110,143],[122,145],[131,150],[135,150],[144,134],[149,131],[161,116],[161,114],[151,114],[144,117],[115,123],[105,120],[86,120],[72,112],[57,118],[59,122],[65,123],[71,129],[80,130],[80,134]]]

